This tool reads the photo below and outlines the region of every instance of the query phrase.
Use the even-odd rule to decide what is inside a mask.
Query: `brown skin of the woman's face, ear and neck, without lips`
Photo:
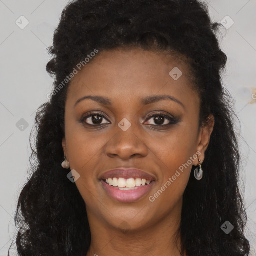
[[[178,80],[169,75],[175,66],[183,72]],[[99,52],[71,81],[62,146],[70,169],[80,174],[75,184],[86,203],[91,230],[86,256],[181,255],[181,240],[175,232],[182,195],[198,158],[155,201],[150,202],[149,196],[197,151],[202,163],[209,144],[214,118],[210,116],[209,123],[199,127],[199,96],[189,84],[188,70],[185,62],[163,53],[115,49]],[[75,105],[88,95],[107,97],[112,105],[91,99]],[[182,104],[167,99],[146,105],[139,102],[155,95],[169,95]],[[163,127],[171,121],[162,117],[159,124],[155,120],[159,114],[148,118],[157,110],[178,121]],[[92,117],[81,121],[91,111],[97,112],[94,117],[107,117],[101,115],[101,126]],[[131,123],[126,131],[118,126],[123,118]],[[155,177],[151,191],[131,203],[111,198],[99,177],[119,166],[142,169]]]

